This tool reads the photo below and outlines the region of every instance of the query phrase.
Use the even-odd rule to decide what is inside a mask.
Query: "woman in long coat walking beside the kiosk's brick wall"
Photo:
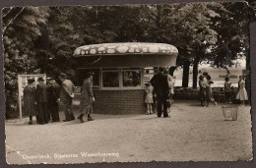
[[[93,73],[87,73],[86,79],[81,86],[81,98],[80,98],[80,116],[78,119],[81,123],[84,123],[83,116],[88,115],[88,121],[93,121],[91,113],[93,112],[93,103],[95,102],[95,97],[93,93]]]

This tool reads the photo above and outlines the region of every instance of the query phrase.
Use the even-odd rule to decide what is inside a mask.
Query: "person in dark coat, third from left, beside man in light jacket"
[[[60,95],[60,85],[57,84],[54,79],[49,79],[48,119],[50,119],[50,115],[51,115],[52,122],[59,122],[59,104],[58,104],[59,95]]]

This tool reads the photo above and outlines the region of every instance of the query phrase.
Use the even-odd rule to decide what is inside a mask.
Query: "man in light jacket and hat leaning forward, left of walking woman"
[[[75,116],[72,110],[72,99],[74,98],[76,87],[70,81],[67,80],[66,74],[61,73],[59,80],[62,82],[60,88],[60,101],[63,104],[66,119],[64,122],[75,120]]]

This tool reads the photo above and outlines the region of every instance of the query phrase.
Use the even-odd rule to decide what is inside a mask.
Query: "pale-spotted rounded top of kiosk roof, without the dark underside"
[[[84,45],[78,47],[75,57],[97,55],[177,55],[175,46],[165,43],[118,42]]]

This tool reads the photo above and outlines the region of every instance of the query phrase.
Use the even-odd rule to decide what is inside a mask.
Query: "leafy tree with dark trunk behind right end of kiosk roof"
[[[211,18],[220,15],[211,9],[213,6],[223,9],[222,4],[215,2],[142,6],[145,39],[178,48],[177,65],[183,67],[182,86],[188,86],[189,66],[201,61],[199,57],[195,59],[195,51],[205,45],[205,41],[213,44],[217,40],[217,32],[210,26]]]

